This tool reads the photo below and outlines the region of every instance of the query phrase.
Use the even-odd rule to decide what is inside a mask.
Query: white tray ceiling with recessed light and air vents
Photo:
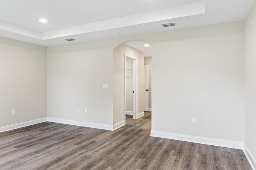
[[[255,0],[0,0],[0,36],[43,46],[242,21]],[[38,20],[45,18],[48,23]],[[176,22],[176,26],[162,27]],[[76,41],[66,41],[74,38]]]

